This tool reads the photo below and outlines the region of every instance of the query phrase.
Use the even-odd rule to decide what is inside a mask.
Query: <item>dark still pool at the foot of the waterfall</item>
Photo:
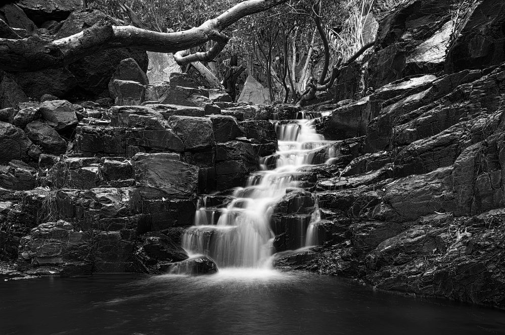
[[[0,282],[0,334],[505,334],[505,312],[303,273],[43,277]]]

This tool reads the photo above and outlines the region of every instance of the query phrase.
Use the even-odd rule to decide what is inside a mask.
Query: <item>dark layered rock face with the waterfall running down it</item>
[[[118,24],[44,3],[0,12],[37,38],[48,21],[56,38]],[[0,71],[0,260],[62,276],[274,267],[505,308],[505,4],[454,6],[402,2],[333,101],[303,108],[251,76],[235,103],[171,60],[146,74],[129,48]]]

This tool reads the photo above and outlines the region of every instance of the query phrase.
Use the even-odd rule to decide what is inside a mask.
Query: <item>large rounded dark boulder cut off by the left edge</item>
[[[32,142],[21,129],[6,122],[0,122],[0,152],[2,152],[0,162],[28,158],[31,145]]]

